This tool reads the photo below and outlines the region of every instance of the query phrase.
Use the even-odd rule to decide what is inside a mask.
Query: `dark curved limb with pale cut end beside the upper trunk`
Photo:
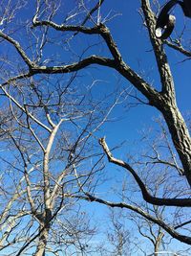
[[[184,15],[191,18],[191,0],[171,0],[166,3],[161,12],[159,12],[156,24],[156,36],[160,39],[168,38],[174,30],[176,17],[169,14],[169,12],[177,4],[180,5]]]

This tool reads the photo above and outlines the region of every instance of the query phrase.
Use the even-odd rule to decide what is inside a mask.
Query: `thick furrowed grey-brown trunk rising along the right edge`
[[[155,52],[155,57],[157,59],[160,81],[162,85],[161,93],[160,95],[157,95],[157,97],[154,95],[154,97],[149,98],[146,94],[144,95],[150,101],[151,105],[155,105],[156,108],[158,108],[162,113],[169,128],[174,146],[179,154],[180,161],[184,169],[184,175],[191,186],[190,134],[176,104],[173,76],[171,74],[167,56],[163,49],[163,41],[159,40],[155,35],[156,17],[154,12],[151,10],[150,1],[141,0],[141,6],[144,12],[151,43]]]

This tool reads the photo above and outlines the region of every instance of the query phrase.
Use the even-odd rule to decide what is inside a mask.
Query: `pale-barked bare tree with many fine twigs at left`
[[[30,62],[52,62],[43,56],[49,42],[47,29],[38,35],[30,22],[21,21],[11,32],[12,22],[28,5],[4,1],[2,9],[1,44],[11,47],[11,54],[8,51],[1,58],[0,250],[6,255],[58,255],[60,251],[84,255],[90,252],[87,244],[96,231],[75,195],[79,182],[84,188],[94,186],[94,177],[103,168],[94,134],[123,92],[94,99],[96,81],[79,86],[76,72],[26,76],[30,58]],[[37,9],[40,6],[51,15],[57,10],[56,2],[37,2]],[[13,39],[17,30],[25,32],[25,48]],[[59,58],[53,61],[55,65]]]

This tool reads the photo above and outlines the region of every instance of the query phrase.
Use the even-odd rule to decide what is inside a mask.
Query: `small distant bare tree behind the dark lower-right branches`
[[[149,128],[143,130],[139,146],[141,147],[142,141],[144,141],[144,146],[146,145],[146,142],[149,143],[148,146],[143,149],[141,155],[132,155],[131,153],[134,151],[132,146],[130,154],[128,154],[126,158],[131,162],[131,165],[134,166],[134,168],[137,168],[142,182],[147,185],[155,197],[162,195],[162,198],[164,198],[167,196],[173,197],[174,195],[176,198],[178,197],[176,196],[177,193],[179,193],[180,197],[182,180],[179,180],[174,174],[169,174],[169,169],[172,170],[172,167],[177,170],[177,173],[179,174],[180,163],[176,161],[175,155],[172,154],[172,145],[167,137],[166,129],[160,123],[161,120],[158,119],[157,122],[161,128],[161,133],[159,133],[157,137],[154,137],[152,141],[152,131],[148,132]],[[138,144],[134,147],[135,151],[137,151]],[[154,168],[155,170],[158,170],[155,173],[155,176],[153,175]],[[169,236],[168,232],[166,232],[159,224],[156,224],[155,221],[147,218],[151,217],[153,220],[156,219],[158,221],[166,222],[166,224],[168,223],[168,225],[170,224],[171,227],[174,227],[175,230],[180,229],[181,233],[187,234],[189,237],[189,210],[183,207],[171,207],[169,209],[167,206],[152,205],[144,202],[141,198],[138,198],[139,188],[131,176],[126,172],[124,172],[121,177],[119,177],[120,175],[121,174],[118,173],[118,180],[116,181],[115,187],[113,185],[110,189],[110,197],[107,198],[116,197],[121,203],[118,203],[115,206],[115,204],[111,205],[111,201],[108,200],[99,202],[109,203],[109,205],[112,206],[112,223],[114,221],[123,223],[122,228],[119,229],[122,233],[120,234],[120,237],[126,239],[129,238],[128,248],[133,247],[133,253],[145,256],[160,254],[168,255],[168,253],[171,253],[172,255],[189,255],[189,246],[181,247],[181,244],[175,246],[172,243],[172,237]],[[170,184],[168,181],[171,179],[172,183],[173,178],[175,183]],[[181,195],[184,197],[188,193],[189,190],[182,191]],[[124,204],[125,201],[128,202],[127,207]],[[131,211],[127,211],[127,209],[131,209]],[[140,211],[138,212],[138,210],[141,210],[142,215],[139,214]],[[116,225],[114,226],[116,227]],[[127,229],[125,229],[126,226]],[[119,227],[121,227],[120,224]],[[111,230],[112,228],[110,227],[108,232],[112,232]],[[114,237],[115,236],[112,235],[112,238]],[[114,243],[117,244],[117,241],[116,237]],[[122,255],[126,254],[127,252],[124,252]]]

